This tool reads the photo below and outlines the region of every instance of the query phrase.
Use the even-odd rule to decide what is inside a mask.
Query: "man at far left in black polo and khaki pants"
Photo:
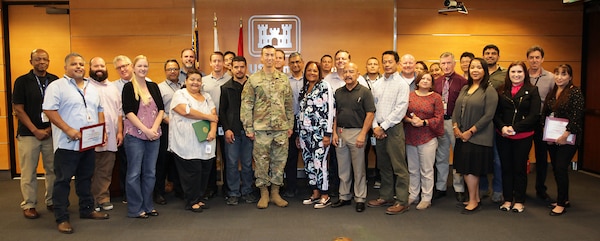
[[[43,49],[31,52],[29,63],[33,69],[15,81],[13,90],[13,110],[19,120],[17,141],[19,142],[19,167],[21,168],[21,194],[23,215],[28,219],[39,218],[35,210],[37,204],[36,170],[42,154],[42,163],[46,172],[45,203],[48,210],[53,209],[52,190],[54,185],[54,154],[52,130],[48,118],[42,113],[42,101],[48,85],[58,79],[48,73],[50,57]]]

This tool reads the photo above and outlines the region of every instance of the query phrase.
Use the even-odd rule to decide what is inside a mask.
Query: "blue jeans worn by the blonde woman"
[[[127,216],[137,217],[154,209],[152,190],[160,140],[146,141],[125,135],[127,153]]]

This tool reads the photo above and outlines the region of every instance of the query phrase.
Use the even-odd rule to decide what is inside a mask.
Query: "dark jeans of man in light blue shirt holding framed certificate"
[[[75,193],[79,197],[79,215],[87,216],[94,211],[94,197],[91,192],[94,159],[96,152],[57,149],[54,152],[54,217],[56,223],[69,221],[69,193],[71,177],[75,176]]]

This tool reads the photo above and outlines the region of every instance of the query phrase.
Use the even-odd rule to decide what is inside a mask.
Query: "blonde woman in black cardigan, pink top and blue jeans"
[[[127,216],[158,216],[152,202],[156,159],[162,134],[160,123],[164,105],[158,85],[146,81],[148,59],[133,60],[133,78],[123,87],[124,146],[127,154]]]

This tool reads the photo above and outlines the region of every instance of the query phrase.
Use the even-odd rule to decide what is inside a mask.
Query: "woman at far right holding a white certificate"
[[[554,169],[554,180],[558,192],[556,203],[552,204],[550,216],[560,216],[569,207],[569,164],[581,144],[583,133],[583,108],[585,106],[581,89],[573,85],[573,68],[561,64],[554,69],[554,89],[546,96],[542,116],[568,120],[566,130],[555,141],[548,142],[548,153]],[[571,136],[574,134],[575,136]],[[568,144],[570,138],[574,144]]]

